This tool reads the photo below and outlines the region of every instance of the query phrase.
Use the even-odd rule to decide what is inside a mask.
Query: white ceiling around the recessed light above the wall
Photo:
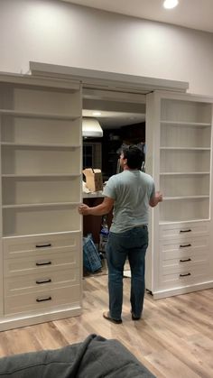
[[[179,0],[171,10],[162,7],[163,0],[62,0],[117,14],[126,14],[147,20],[172,23],[213,32],[213,0]]]

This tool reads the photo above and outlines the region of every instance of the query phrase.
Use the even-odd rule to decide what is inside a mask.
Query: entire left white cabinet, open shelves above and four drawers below
[[[0,323],[6,329],[80,311],[81,102],[78,83],[2,80]]]

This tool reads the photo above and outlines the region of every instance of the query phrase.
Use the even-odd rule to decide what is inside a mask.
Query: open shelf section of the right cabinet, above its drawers
[[[209,218],[211,104],[162,99],[160,221]]]

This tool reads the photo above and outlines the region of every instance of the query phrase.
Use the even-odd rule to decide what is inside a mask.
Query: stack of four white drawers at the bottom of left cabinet
[[[79,305],[79,233],[3,239],[5,317]]]

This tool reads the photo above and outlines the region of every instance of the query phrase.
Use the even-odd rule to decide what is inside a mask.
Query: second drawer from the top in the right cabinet
[[[186,259],[194,255],[209,253],[209,236],[193,237],[186,242],[179,239],[163,240],[160,244],[160,254],[163,260],[175,258]]]

